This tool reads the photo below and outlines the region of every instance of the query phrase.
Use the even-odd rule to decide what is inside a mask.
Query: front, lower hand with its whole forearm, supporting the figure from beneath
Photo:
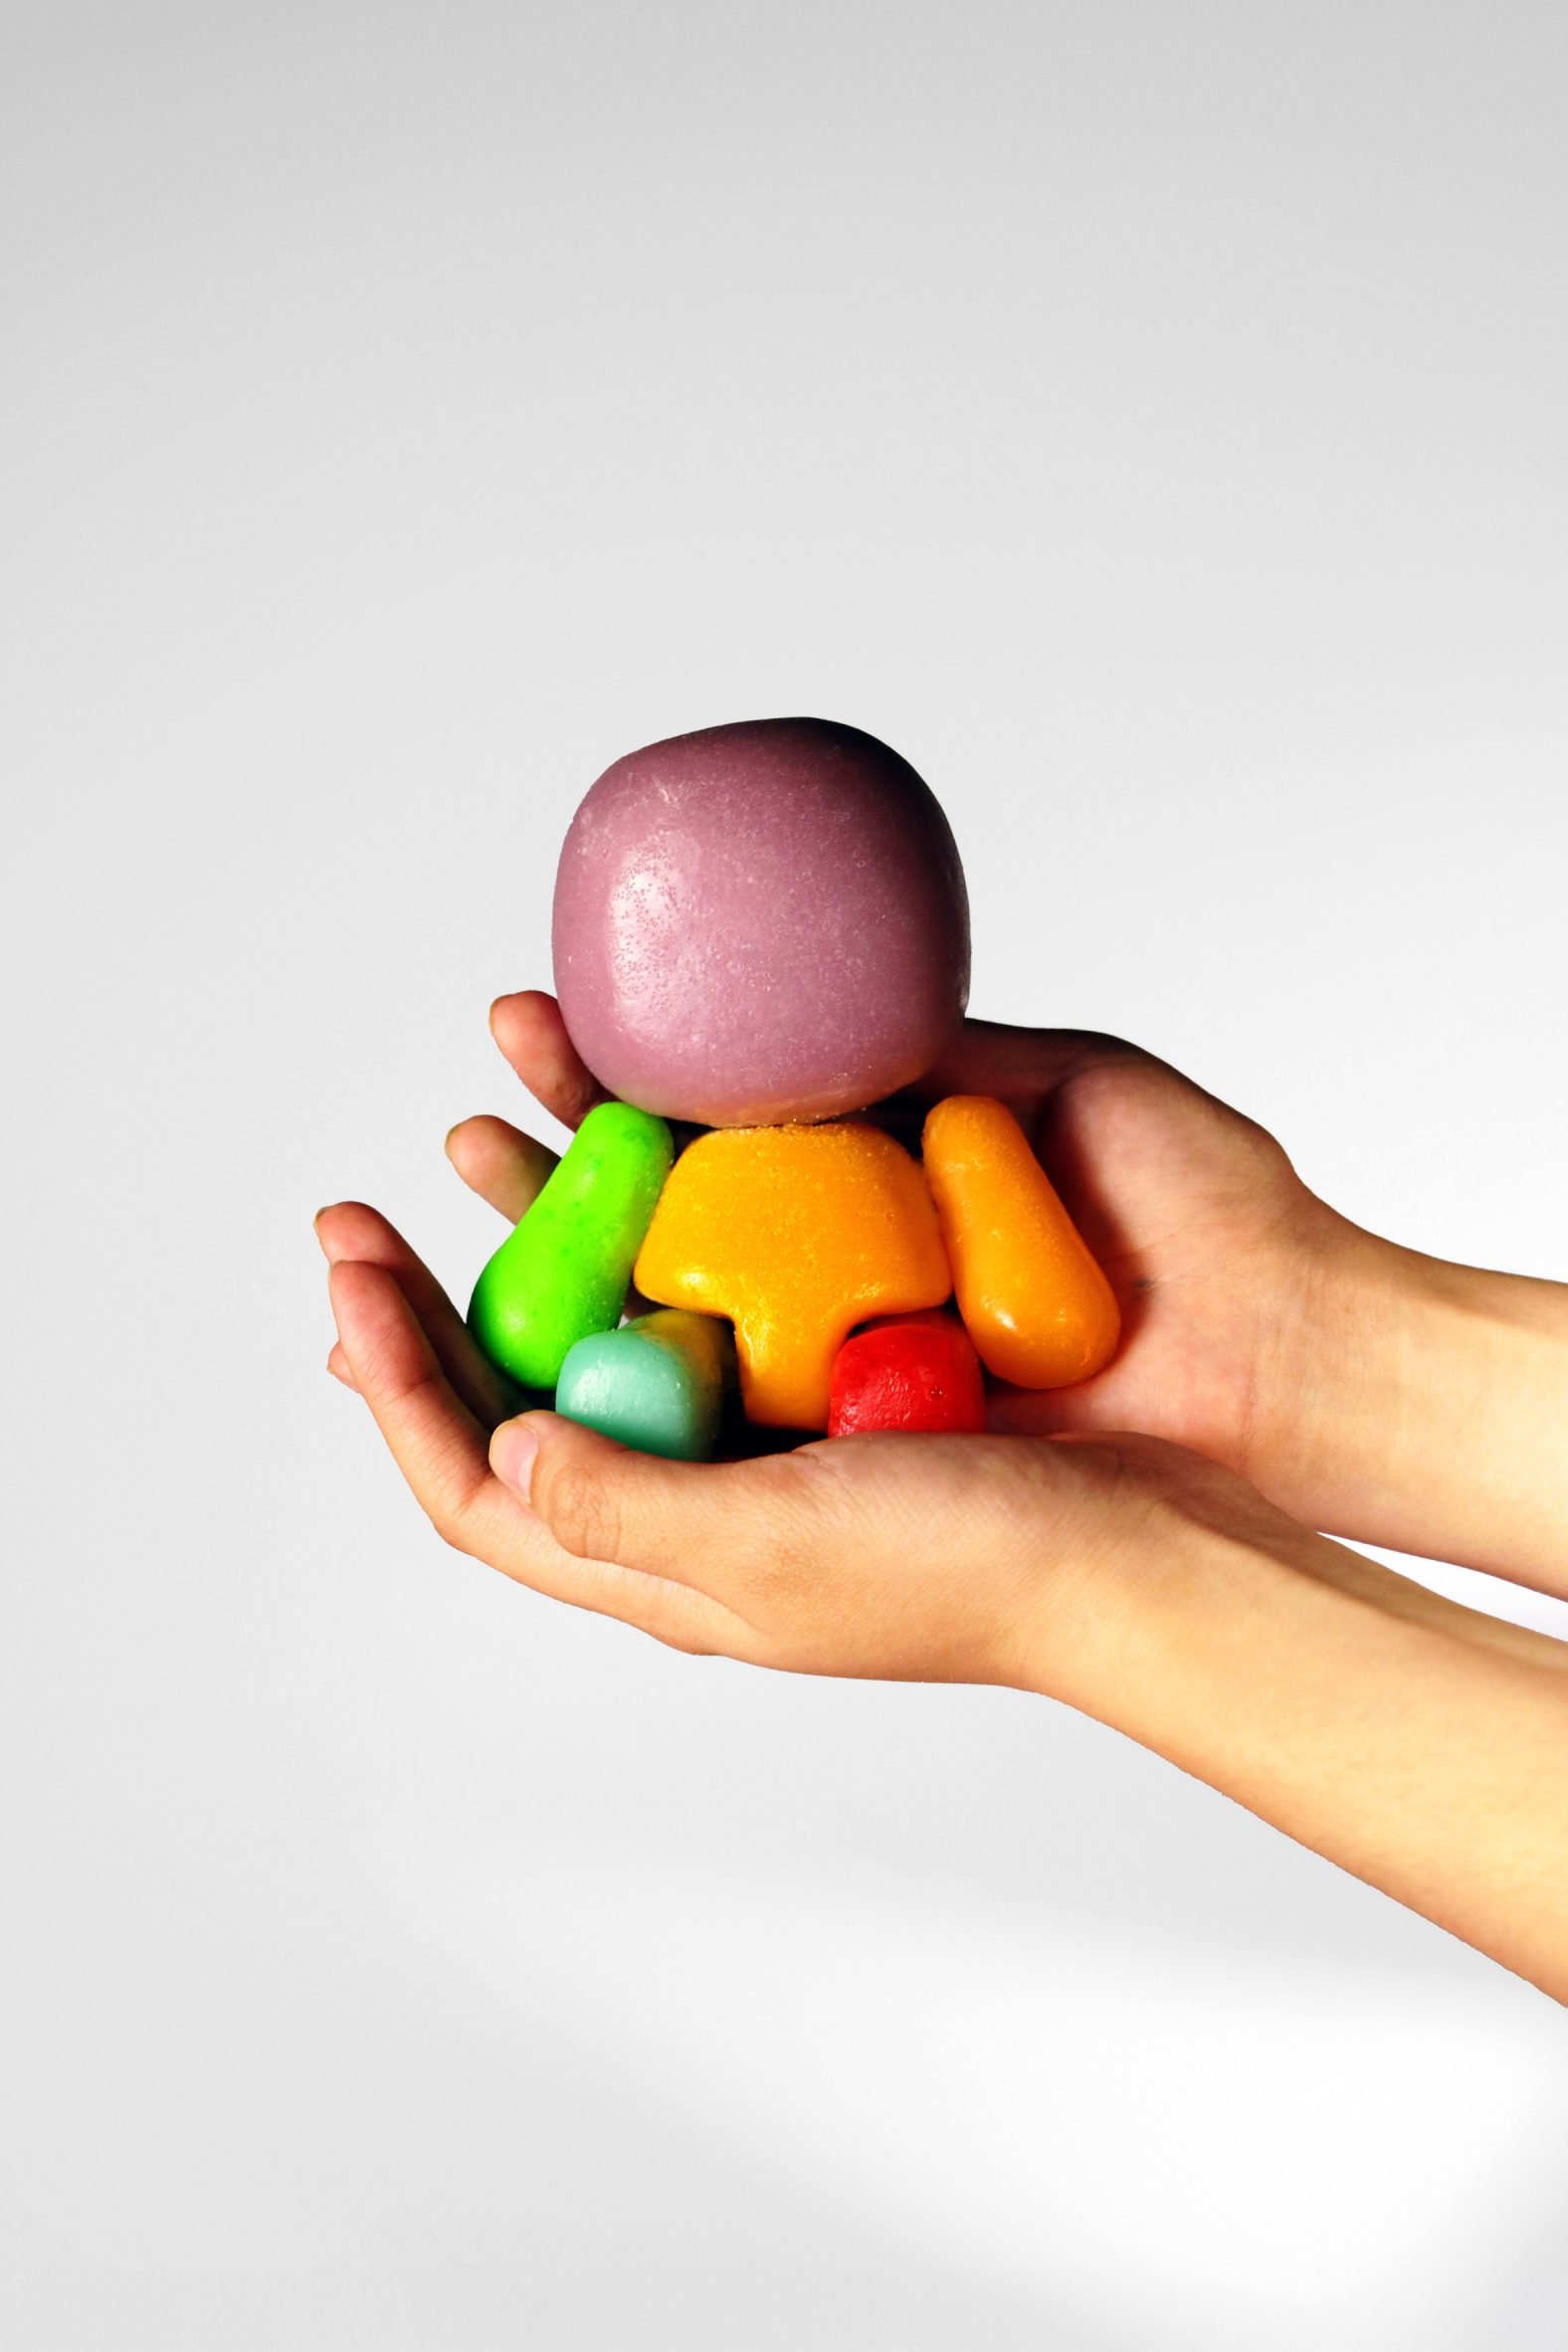
[[[691,1653],[1063,1698],[1568,1994],[1568,1653],[1150,1437],[665,1463],[503,1383],[386,1218],[322,1211],[341,1371],[435,1529]],[[491,1428],[494,1423],[494,1428]]]

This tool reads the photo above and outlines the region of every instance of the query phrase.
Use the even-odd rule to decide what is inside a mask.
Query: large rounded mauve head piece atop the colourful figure
[[[860,1110],[922,1077],[969,1002],[947,818],[858,727],[649,743],[571,818],[555,993],[599,1084],[665,1120]]]

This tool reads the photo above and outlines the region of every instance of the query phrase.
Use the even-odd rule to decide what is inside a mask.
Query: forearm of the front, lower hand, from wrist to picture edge
[[[1098,1604],[1095,1604],[1098,1592]],[[1568,1649],[1326,1538],[1178,1534],[1037,1689],[1568,1999]]]

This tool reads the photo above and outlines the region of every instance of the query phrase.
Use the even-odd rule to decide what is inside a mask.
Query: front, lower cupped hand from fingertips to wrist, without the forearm
[[[675,1649],[1086,1705],[1121,1581],[1173,1573],[1215,1524],[1269,1541],[1286,1526],[1225,1470],[1138,1437],[884,1435],[656,1461],[517,1414],[374,1209],[324,1209],[317,1237],[343,1371],[437,1534]]]

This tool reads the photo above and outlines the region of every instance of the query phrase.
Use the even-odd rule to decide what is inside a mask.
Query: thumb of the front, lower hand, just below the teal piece
[[[792,1456],[670,1463],[559,1414],[522,1414],[491,1437],[491,1468],[581,1559],[614,1559],[733,1604],[806,1508]]]

